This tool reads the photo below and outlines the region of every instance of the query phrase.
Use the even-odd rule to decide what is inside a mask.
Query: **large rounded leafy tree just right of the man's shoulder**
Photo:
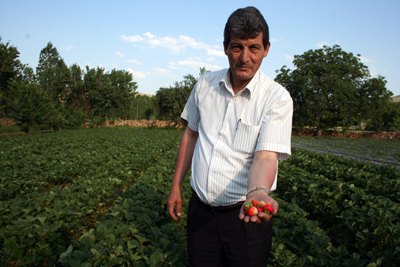
[[[322,130],[344,129],[362,120],[358,95],[369,78],[360,55],[343,51],[340,46],[324,46],[295,55],[294,70],[283,66],[275,81],[286,87],[293,98],[293,125]]]

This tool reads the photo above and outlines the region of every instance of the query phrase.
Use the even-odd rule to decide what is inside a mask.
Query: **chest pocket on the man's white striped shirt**
[[[253,153],[260,132],[260,126],[253,126],[238,122],[233,147],[235,150],[246,153]]]

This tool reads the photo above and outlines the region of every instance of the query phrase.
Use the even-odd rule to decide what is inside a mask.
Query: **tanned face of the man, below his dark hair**
[[[233,85],[249,82],[253,78],[267,56],[269,47],[270,43],[267,47],[263,45],[262,32],[256,38],[246,40],[231,36],[225,54],[228,56]]]

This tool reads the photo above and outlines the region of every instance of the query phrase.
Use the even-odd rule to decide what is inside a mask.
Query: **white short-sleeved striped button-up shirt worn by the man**
[[[199,133],[192,159],[191,186],[211,206],[246,200],[254,153],[290,157],[293,101],[281,85],[258,70],[236,95],[229,69],[199,78],[181,117]],[[276,177],[271,190],[276,189]]]

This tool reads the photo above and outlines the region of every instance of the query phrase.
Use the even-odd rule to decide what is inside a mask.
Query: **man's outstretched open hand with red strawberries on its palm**
[[[274,210],[272,211],[272,214],[267,214],[265,212],[259,212],[257,215],[250,217],[244,213],[243,206],[242,206],[242,208],[240,209],[239,219],[244,220],[247,223],[253,222],[253,223],[259,224],[262,221],[268,222],[272,218],[272,216],[278,212],[278,209],[279,209],[278,202],[276,202],[266,192],[264,192],[262,190],[256,190],[247,196],[246,202],[251,201],[253,199],[263,200],[265,202],[265,204],[271,204],[272,207],[274,208]],[[243,203],[243,205],[246,204],[246,202]]]

